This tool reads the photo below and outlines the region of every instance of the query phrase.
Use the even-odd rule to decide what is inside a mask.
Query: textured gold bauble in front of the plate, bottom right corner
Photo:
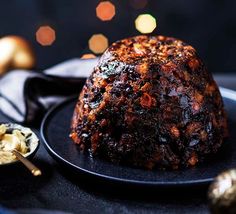
[[[209,187],[208,198],[213,214],[236,213],[236,169],[219,174]]]

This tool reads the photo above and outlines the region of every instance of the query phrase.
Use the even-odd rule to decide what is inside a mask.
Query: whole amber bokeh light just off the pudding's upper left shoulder
[[[108,39],[103,34],[94,34],[89,39],[89,49],[94,53],[103,53],[108,47]]]

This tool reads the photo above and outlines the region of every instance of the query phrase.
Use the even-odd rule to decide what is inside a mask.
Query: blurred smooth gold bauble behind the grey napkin
[[[19,36],[0,39],[0,76],[9,69],[31,69],[35,56],[30,44]]]

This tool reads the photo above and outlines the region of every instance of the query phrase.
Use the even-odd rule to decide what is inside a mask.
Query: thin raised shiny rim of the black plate
[[[222,97],[224,97],[223,94],[222,94]],[[234,99],[230,99],[229,97],[224,97],[224,98],[235,102]],[[198,179],[198,180],[187,180],[187,181],[139,181],[139,180],[134,180],[134,179],[122,179],[122,178],[117,178],[117,177],[110,176],[110,175],[104,175],[101,173],[93,172],[93,171],[84,169],[83,167],[80,167],[76,164],[71,163],[67,159],[61,157],[47,142],[47,140],[45,139],[45,128],[46,128],[48,121],[52,117],[53,113],[56,112],[57,109],[63,107],[67,103],[74,101],[75,99],[78,99],[78,96],[68,97],[64,101],[53,106],[44,116],[41,126],[40,126],[40,136],[42,139],[42,143],[43,143],[44,147],[46,148],[46,150],[48,151],[48,153],[50,154],[50,156],[53,159],[55,159],[57,162],[59,162],[63,165],[69,166],[71,169],[74,169],[74,170],[76,170],[80,173],[83,173],[85,175],[88,175],[88,176],[97,177],[97,178],[107,180],[107,181],[126,183],[126,184],[132,184],[132,185],[142,185],[142,186],[151,186],[151,187],[154,187],[154,186],[155,187],[196,186],[196,185],[204,185],[204,184],[207,185],[214,180],[214,177],[205,178],[205,179]],[[117,167],[119,167],[119,166],[117,165]]]

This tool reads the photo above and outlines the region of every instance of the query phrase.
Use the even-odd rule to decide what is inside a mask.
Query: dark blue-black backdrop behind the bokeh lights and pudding
[[[113,0],[116,16],[109,22],[96,17],[98,0],[1,0],[0,36],[21,35],[36,50],[37,67],[46,68],[60,61],[87,53],[88,40],[103,33],[109,42],[137,35],[134,20],[141,13],[157,19],[153,34],[174,36],[192,44],[209,70],[235,72],[235,0],[149,0],[144,9],[133,9],[128,0]],[[49,24],[57,32],[50,47],[35,41],[40,25]]]

